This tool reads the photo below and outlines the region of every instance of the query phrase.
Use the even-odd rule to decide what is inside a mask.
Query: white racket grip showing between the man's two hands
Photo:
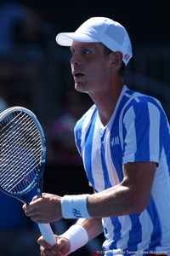
[[[54,246],[56,240],[50,224],[38,224],[38,227],[42,233],[43,239],[47,241],[50,245]]]

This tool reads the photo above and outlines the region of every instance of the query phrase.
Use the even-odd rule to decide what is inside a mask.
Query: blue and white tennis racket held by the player
[[[0,114],[0,189],[29,204],[23,197],[37,185],[42,195],[46,146],[42,127],[30,110],[8,108]],[[45,241],[55,238],[50,224],[38,224]]]

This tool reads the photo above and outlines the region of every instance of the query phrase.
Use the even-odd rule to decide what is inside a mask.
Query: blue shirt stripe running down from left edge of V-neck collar
[[[97,108],[94,109],[94,113],[92,115],[90,125],[88,127],[88,131],[86,133],[85,137],[85,148],[84,148],[84,166],[85,166],[85,171],[87,173],[88,180],[90,183],[92,183],[94,187],[94,177],[92,175],[92,145],[93,145],[93,137],[94,137],[94,127],[95,127],[95,122],[97,118]]]

